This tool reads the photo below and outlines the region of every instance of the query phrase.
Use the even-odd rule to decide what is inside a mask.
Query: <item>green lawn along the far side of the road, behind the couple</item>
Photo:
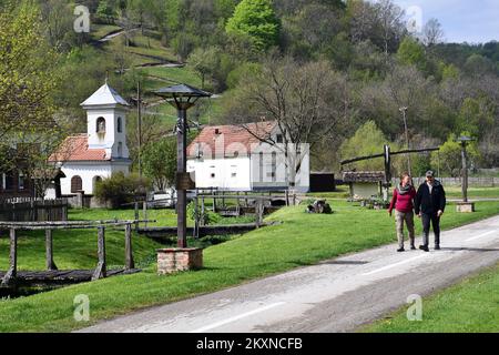
[[[365,210],[345,202],[336,202],[333,206],[335,213],[332,215],[306,214],[304,206],[283,209],[267,219],[282,221],[282,224],[206,248],[205,267],[197,272],[157,276],[153,264],[134,275],[3,301],[0,303],[0,332],[70,331],[145,306],[179,301],[395,242],[394,220],[386,211]],[[499,202],[478,203],[477,211],[457,214],[454,206],[449,206],[442,227],[495,215],[499,213]],[[151,250],[154,250],[153,245]],[[7,255],[6,246],[1,254]],[[80,255],[74,253],[73,257]],[[86,294],[91,301],[91,322],[86,324],[75,323],[72,317],[73,298],[79,294]]]

